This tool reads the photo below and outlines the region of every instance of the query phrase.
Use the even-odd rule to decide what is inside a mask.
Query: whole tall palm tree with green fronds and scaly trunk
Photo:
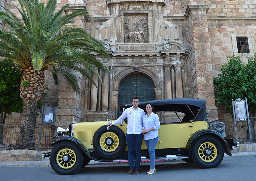
[[[5,9],[0,11],[0,19],[10,26],[10,31],[0,31],[0,57],[15,62],[23,69],[20,81],[20,97],[23,100],[21,123],[17,146],[35,147],[36,107],[44,90],[44,71],[52,72],[55,84],[61,74],[79,93],[75,74],[81,73],[96,86],[92,80],[95,68],[108,72],[108,69],[96,57],[89,54],[95,52],[109,59],[103,45],[93,39],[81,27],[68,26],[74,18],[83,16],[84,10],[64,14],[68,4],[56,11],[57,0],[49,0],[46,4],[40,0],[19,0],[21,8],[15,6],[21,18]],[[99,74],[98,74],[99,76]]]

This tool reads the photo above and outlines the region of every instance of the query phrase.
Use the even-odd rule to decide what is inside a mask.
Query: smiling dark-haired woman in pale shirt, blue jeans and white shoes
[[[142,132],[144,133],[144,140],[148,148],[150,157],[150,170],[147,172],[148,175],[156,173],[155,160],[156,160],[156,143],[159,140],[158,129],[160,128],[159,117],[153,113],[153,105],[150,102],[146,103],[145,110],[148,112],[142,117]]]

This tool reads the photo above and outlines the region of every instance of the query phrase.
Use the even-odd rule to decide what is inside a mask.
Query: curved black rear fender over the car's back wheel
[[[213,130],[199,130],[197,132],[195,132],[189,139],[188,139],[188,143],[187,143],[187,148],[189,150],[189,153],[188,153],[188,158],[191,157],[191,152],[192,152],[192,148],[196,142],[196,139],[203,136],[203,135],[211,135],[215,138],[217,138],[220,143],[222,144],[223,146],[223,149],[224,149],[224,152],[229,155],[229,156],[232,156],[229,148],[228,148],[228,143],[227,141],[223,138],[223,136],[216,132],[216,131],[213,131]]]

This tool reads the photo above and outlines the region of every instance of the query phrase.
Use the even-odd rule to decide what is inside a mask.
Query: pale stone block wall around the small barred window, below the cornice
[[[250,26],[248,26],[250,24]],[[236,38],[236,34],[243,35],[248,34],[248,41],[252,41],[252,46],[250,47],[250,55],[240,53],[242,61],[246,62],[248,58],[253,56],[255,51],[254,47],[256,45],[256,22],[250,20],[218,20],[218,21],[208,21],[209,37],[210,37],[210,49],[212,57],[212,71],[213,77],[217,77],[220,65],[227,63],[227,57],[237,53],[237,49],[232,44],[232,34],[233,39]],[[252,34],[253,36],[250,36]]]

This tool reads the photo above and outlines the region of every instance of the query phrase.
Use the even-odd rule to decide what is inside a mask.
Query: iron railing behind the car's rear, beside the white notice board
[[[255,143],[256,142],[256,117],[251,118],[227,118],[218,119],[216,123],[223,122],[225,124],[226,137],[234,141]]]

